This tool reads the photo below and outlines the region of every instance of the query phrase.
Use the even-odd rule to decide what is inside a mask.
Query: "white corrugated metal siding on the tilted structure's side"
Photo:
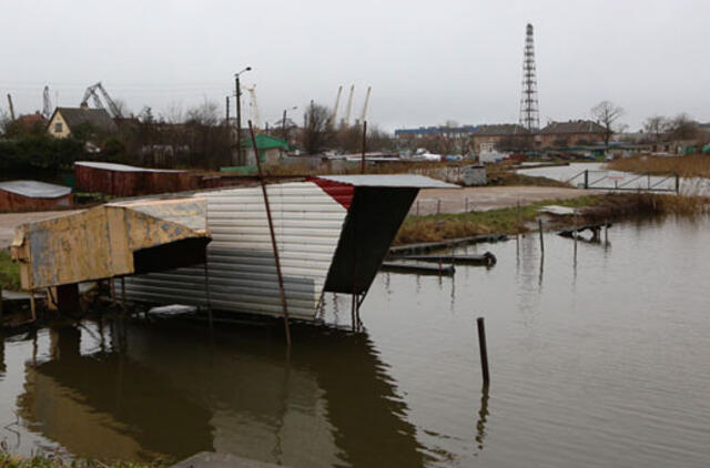
[[[311,319],[337,247],[345,207],[312,182],[267,185],[288,313]],[[278,278],[261,187],[199,193],[207,199],[212,307],[281,315]],[[126,277],[131,301],[206,305],[204,266]]]

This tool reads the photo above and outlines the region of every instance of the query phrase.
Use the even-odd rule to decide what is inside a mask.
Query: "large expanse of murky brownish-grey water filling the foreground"
[[[0,342],[0,439],[292,467],[704,467],[710,220],[478,245],[490,268],[379,274],[366,330],[84,321]],[[349,323],[345,297],[327,319]],[[475,319],[486,319],[481,390]]]

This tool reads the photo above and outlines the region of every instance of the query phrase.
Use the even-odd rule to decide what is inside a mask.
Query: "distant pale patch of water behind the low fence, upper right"
[[[609,171],[605,163],[570,163],[549,167],[521,169],[519,174],[554,179],[568,182],[574,186],[582,187],[585,183],[584,172],[588,171],[587,183],[597,190],[653,190],[676,191],[676,177],[673,175],[640,175],[631,172]],[[678,191],[683,195],[710,195],[710,179],[707,177],[680,177]]]

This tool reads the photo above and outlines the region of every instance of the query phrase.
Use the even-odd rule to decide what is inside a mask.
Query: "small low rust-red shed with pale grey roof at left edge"
[[[38,181],[0,182],[0,212],[69,207],[71,189]]]

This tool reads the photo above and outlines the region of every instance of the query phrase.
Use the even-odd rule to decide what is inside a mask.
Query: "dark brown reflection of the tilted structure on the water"
[[[364,335],[295,327],[287,359],[270,327],[216,327],[210,343],[194,324],[104,325],[50,328],[48,355],[26,365],[20,416],[72,454],[424,465],[407,407]]]

